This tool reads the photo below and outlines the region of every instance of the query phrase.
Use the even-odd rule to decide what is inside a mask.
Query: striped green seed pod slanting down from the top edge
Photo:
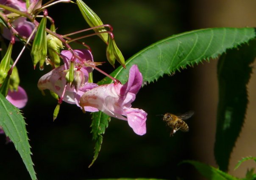
[[[99,16],[92,11],[82,0],[76,0],[78,8],[80,9],[83,18],[89,24],[90,27],[96,27],[103,25],[103,22],[100,20]],[[94,29],[95,32],[104,32],[107,31],[104,27],[99,27]],[[98,36],[105,42],[108,43],[108,33],[101,33]]]

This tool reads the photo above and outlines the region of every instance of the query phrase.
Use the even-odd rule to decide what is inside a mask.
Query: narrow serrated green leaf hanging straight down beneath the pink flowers
[[[98,154],[100,152],[102,140],[103,140],[103,134],[105,133],[106,128],[109,125],[110,117],[106,115],[105,113],[102,113],[101,111],[98,111],[96,113],[92,113],[92,140],[95,141],[95,151],[92,163],[89,165],[89,167],[92,166],[92,164],[95,162],[95,160],[98,157]]]

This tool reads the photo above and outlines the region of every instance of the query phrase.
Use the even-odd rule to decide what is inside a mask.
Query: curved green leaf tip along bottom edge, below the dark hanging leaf
[[[239,180],[237,177],[231,176],[228,173],[221,171],[220,169],[198,161],[182,161],[181,163],[192,164],[198,170],[198,172],[200,172],[201,175],[209,180]]]

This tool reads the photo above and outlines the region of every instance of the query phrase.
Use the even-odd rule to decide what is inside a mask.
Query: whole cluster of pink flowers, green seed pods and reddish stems
[[[31,59],[34,69],[39,64],[39,69],[44,70],[45,64],[52,70],[43,75],[38,81],[40,90],[48,89],[58,100],[53,113],[56,119],[61,103],[75,104],[83,112],[102,111],[109,116],[128,121],[129,126],[136,134],[146,133],[145,121],[147,113],[144,110],[131,107],[136,94],[142,86],[142,74],[136,65],[129,70],[127,83],[106,74],[97,66],[102,62],[94,62],[91,48],[80,40],[92,35],[99,36],[106,43],[106,59],[114,67],[115,60],[125,68],[125,59],[114,41],[113,29],[108,24],[103,24],[97,14],[92,11],[82,0],[76,0],[85,21],[90,28],[60,35],[56,32],[54,20],[48,16],[47,7],[56,3],[73,3],[70,0],[50,0],[42,5],[42,0],[0,0],[0,23],[2,24],[3,37],[10,40],[0,62],[0,92],[19,108],[25,106],[27,95],[24,89],[19,87],[19,77],[16,64],[19,61],[25,47],[31,49]],[[40,15],[41,14],[41,15]],[[40,22],[38,21],[40,20]],[[47,28],[50,21],[50,28]],[[70,36],[93,30],[89,35],[79,38]],[[24,48],[19,56],[13,61],[11,52],[15,41],[24,43]],[[81,44],[81,49],[73,49],[71,42]],[[2,42],[3,44],[3,42]],[[61,49],[66,49],[62,50]],[[3,54],[2,53],[2,54]],[[62,59],[62,60],[61,60]],[[93,83],[92,72],[97,70],[113,80],[111,84],[98,86]],[[14,95],[20,103],[14,102]],[[22,97],[22,98],[21,98]]]

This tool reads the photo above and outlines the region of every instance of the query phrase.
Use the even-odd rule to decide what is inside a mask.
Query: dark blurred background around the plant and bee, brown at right
[[[114,27],[115,40],[125,59],[139,50],[170,35],[207,27],[255,27],[254,0],[87,0],[84,1],[102,19]],[[75,4],[58,4],[48,8],[59,34],[88,28]],[[84,40],[91,48],[95,61],[106,61],[105,44],[98,37]],[[15,44],[17,53],[22,46]],[[76,44],[72,45],[81,48]],[[116,64],[118,66],[118,64]],[[28,93],[28,105],[23,109],[32,147],[32,159],[39,180],[85,180],[96,178],[148,177],[176,180],[203,180],[190,165],[177,164],[186,159],[217,167],[214,137],[217,112],[217,60],[204,62],[173,76],[165,75],[144,86],[137,94],[133,107],[147,113],[147,134],[136,135],[127,122],[112,118],[103,137],[103,145],[95,161],[94,142],[90,134],[91,116],[75,105],[63,103],[58,118],[52,121],[56,107],[49,92],[42,96],[38,79],[50,69],[33,70],[28,51],[17,64],[21,86]],[[108,73],[113,68],[101,67]],[[254,69],[253,69],[254,72]],[[104,76],[95,72],[95,82]],[[249,105],[244,127],[231,154],[229,173],[245,177],[253,161],[245,162],[234,171],[242,157],[256,156],[254,142],[256,125],[256,75],[248,85]],[[170,129],[159,114],[184,113],[194,110],[187,123],[190,131],[169,137]],[[0,179],[29,180],[19,154],[12,143],[5,144],[0,136]],[[4,155],[4,156],[3,156]]]

